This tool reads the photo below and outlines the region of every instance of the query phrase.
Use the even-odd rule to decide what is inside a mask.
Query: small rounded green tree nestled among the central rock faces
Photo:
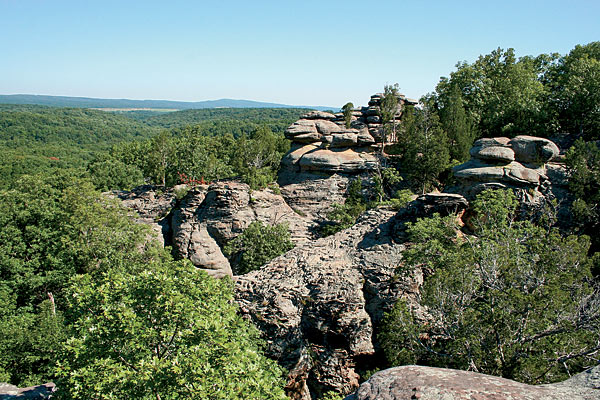
[[[254,221],[224,248],[236,274],[245,274],[294,248],[287,224],[265,225]]]

